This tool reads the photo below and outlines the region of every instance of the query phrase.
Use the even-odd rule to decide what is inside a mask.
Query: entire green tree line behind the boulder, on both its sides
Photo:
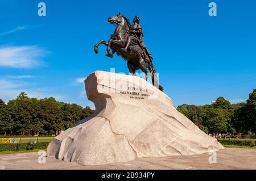
[[[256,89],[245,103],[231,104],[223,97],[210,105],[184,104],[177,110],[205,133],[256,133]],[[21,92],[7,104],[0,99],[0,134],[59,134],[94,113],[90,107],[37,100]]]

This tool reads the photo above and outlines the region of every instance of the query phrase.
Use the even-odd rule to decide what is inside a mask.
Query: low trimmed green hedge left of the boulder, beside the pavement
[[[0,144],[0,151],[25,151],[46,149],[49,142],[38,142],[35,145],[30,144]]]

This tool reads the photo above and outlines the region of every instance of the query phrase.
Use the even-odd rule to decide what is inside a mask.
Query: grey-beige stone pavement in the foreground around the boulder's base
[[[208,162],[209,154],[137,158],[125,163],[83,166],[47,157],[38,163],[38,153],[0,155],[0,169],[256,169],[256,149],[226,148],[217,151],[217,163]]]

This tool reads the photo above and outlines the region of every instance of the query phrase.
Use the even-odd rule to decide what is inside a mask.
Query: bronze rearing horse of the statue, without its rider
[[[129,20],[125,16],[118,14],[110,17],[108,22],[117,24],[117,27],[108,42],[101,40],[99,43],[94,45],[95,53],[98,53],[98,47],[101,44],[106,45],[108,47],[108,54],[106,54],[106,56],[112,58],[113,54],[116,52],[118,56],[120,55],[127,61],[127,67],[132,75],[136,75],[135,71],[141,69],[146,74],[146,80],[148,77],[147,69],[150,70],[153,85],[163,91],[163,87],[158,83],[155,68],[149,58],[144,56],[143,49],[138,41],[132,41],[129,50],[124,49],[126,47],[127,38],[131,36],[129,33]],[[113,52],[110,52],[110,48]]]

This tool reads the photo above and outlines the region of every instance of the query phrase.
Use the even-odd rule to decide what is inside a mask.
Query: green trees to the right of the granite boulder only
[[[245,103],[231,104],[219,97],[210,105],[184,104],[177,110],[205,133],[256,133],[256,89]]]

